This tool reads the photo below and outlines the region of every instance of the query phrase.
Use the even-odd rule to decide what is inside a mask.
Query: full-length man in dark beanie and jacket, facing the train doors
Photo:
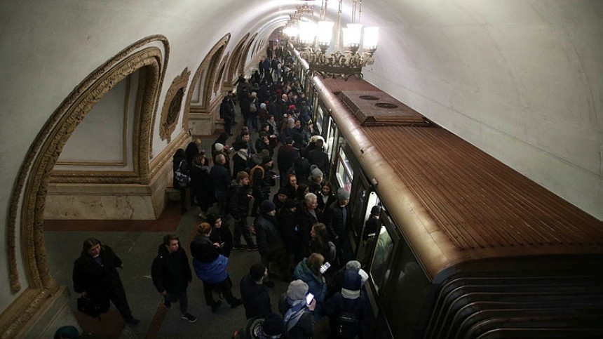
[[[276,206],[272,201],[265,200],[262,201],[259,209],[262,214],[254,221],[259,257],[268,270],[270,270],[270,262],[274,262],[276,270],[284,275],[286,273],[287,254],[285,253],[283,239],[278,231],[275,216]],[[274,283],[269,281],[268,277],[264,279],[264,284],[268,287],[274,286]]]

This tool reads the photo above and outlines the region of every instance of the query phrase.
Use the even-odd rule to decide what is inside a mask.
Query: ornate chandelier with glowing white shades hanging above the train
[[[313,20],[313,8],[306,4],[298,6],[297,11],[290,14],[290,20],[283,29],[283,34],[289,38],[290,44],[299,55],[308,62],[310,71],[314,74],[320,74],[323,78],[348,79],[352,75],[360,78],[363,76],[363,67],[374,64],[373,53],[377,50],[379,27],[363,29],[360,23],[362,0],[352,1],[352,22],[346,27],[341,27],[342,0],[339,0],[333,51],[327,52],[331,46],[334,27],[334,22],[326,20],[327,2],[328,0],[323,0],[318,22]],[[358,53],[361,40],[363,52]]]

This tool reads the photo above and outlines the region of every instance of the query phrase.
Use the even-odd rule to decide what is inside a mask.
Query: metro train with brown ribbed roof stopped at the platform
[[[373,338],[603,338],[603,222],[367,81],[296,65],[351,193]]]

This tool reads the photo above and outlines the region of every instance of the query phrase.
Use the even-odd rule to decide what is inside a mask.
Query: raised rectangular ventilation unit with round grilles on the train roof
[[[382,91],[341,91],[339,99],[363,126],[429,126],[419,112]]]

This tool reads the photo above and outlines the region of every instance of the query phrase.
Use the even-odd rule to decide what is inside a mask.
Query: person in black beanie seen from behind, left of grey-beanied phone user
[[[240,298],[243,299],[247,319],[256,316],[264,317],[272,312],[270,295],[263,285],[264,278],[267,276],[266,266],[258,263],[251,265],[249,274],[240,281]]]

